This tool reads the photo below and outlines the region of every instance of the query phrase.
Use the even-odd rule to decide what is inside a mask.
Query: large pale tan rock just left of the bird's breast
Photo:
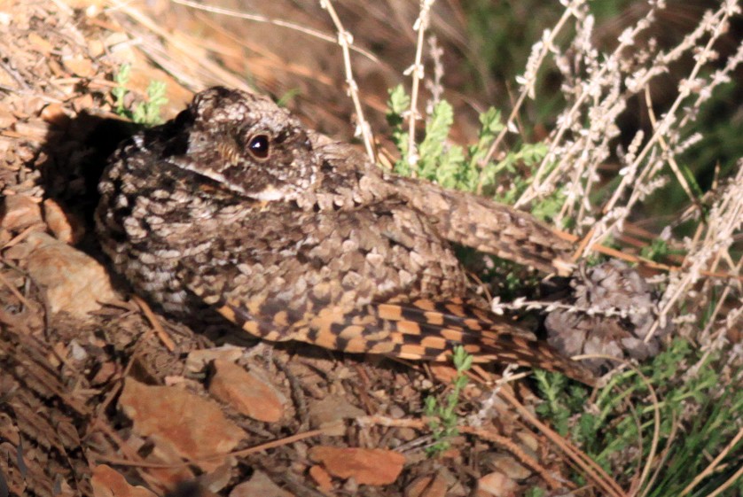
[[[27,252],[28,275],[41,287],[52,314],[65,311],[87,320],[99,302],[117,299],[97,260],[46,233],[31,233],[13,248]]]

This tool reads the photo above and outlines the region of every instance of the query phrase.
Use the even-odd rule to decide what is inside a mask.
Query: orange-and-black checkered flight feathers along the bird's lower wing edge
[[[264,303],[260,309],[269,309]],[[258,307],[254,310],[261,312]],[[347,353],[377,353],[414,361],[447,361],[464,346],[475,362],[516,363],[548,369],[585,384],[594,378],[579,363],[530,338],[517,325],[459,299],[420,299],[404,305],[326,307],[292,316],[285,310],[256,315],[245,304],[225,300],[217,311],[242,329],[270,340],[293,339]],[[293,318],[299,318],[292,322]]]

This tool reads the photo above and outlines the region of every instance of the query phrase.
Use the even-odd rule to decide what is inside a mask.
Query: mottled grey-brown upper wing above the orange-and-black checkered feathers
[[[206,252],[179,265],[178,280],[201,300],[230,303],[246,330],[278,340],[296,339],[302,324],[329,309],[346,314],[372,302],[465,292],[449,244],[396,201],[317,213],[269,203],[225,223]]]

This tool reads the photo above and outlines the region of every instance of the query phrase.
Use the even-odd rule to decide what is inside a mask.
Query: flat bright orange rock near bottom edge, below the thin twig
[[[403,454],[381,448],[318,446],[309,449],[309,457],[332,476],[354,478],[361,485],[389,485],[405,464]]]

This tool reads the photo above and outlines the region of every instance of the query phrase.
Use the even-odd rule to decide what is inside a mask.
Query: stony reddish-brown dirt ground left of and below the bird
[[[165,116],[199,87],[246,85],[181,58],[198,46],[163,38],[147,12],[104,6],[0,1],[0,497],[570,488],[559,451],[525,421],[525,385],[499,387],[504,401],[497,377],[475,371],[460,415],[478,427],[428,458],[423,400],[450,368],[192,330],[110,280],[96,181],[135,129],[113,113],[114,74],[131,64],[135,100],[166,82]]]

